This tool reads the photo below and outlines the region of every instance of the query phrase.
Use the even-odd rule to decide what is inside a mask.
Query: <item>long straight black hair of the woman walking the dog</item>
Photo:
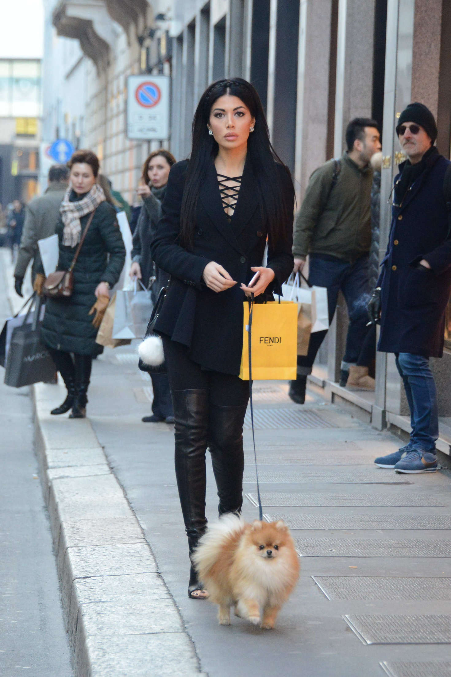
[[[268,221],[270,243],[274,246],[285,235],[283,224],[289,223],[287,205],[282,198],[281,185],[275,163],[286,171],[292,183],[288,167],[285,167],[274,148],[272,148],[268,125],[264,116],[262,102],[250,83],[242,78],[218,80],[207,87],[201,95],[193,118],[193,147],[189,160],[185,190],[181,206],[181,244],[191,248],[195,227],[197,196],[204,183],[208,165],[218,154],[219,146],[212,135],[208,134],[208,123],[214,102],[224,94],[236,96],[255,118],[254,132],[247,139],[247,157],[258,181],[262,200],[262,218]]]

